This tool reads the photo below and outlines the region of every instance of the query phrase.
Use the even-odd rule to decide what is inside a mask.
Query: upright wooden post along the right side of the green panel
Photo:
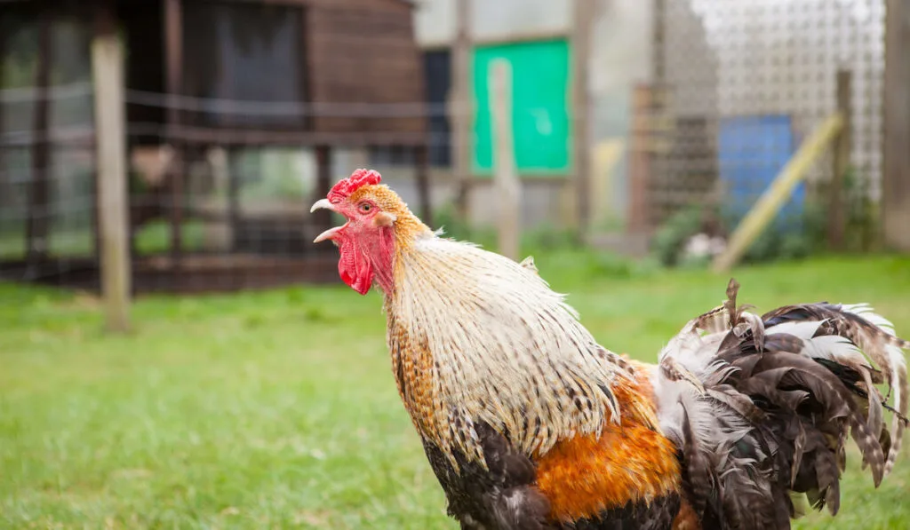
[[[588,91],[588,62],[591,57],[593,0],[575,0],[571,25],[571,117],[572,161],[574,165],[575,207],[580,233],[591,222],[591,122],[588,119],[591,95]]]

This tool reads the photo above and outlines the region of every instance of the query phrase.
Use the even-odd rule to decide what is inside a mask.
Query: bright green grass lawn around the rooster
[[[653,359],[726,276],[538,256],[582,322]],[[872,303],[910,335],[910,258],[736,272],[744,302]],[[150,297],[129,336],[86,295],[0,285],[5,528],[456,528],[399,403],[379,295],[292,287]],[[803,528],[907,528],[910,451],[878,490],[851,453],[841,514]]]

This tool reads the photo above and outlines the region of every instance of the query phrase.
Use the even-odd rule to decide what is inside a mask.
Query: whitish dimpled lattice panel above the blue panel
[[[666,0],[663,22],[677,117],[786,114],[803,137],[834,111],[837,71],[852,72],[853,162],[879,197],[884,0]]]

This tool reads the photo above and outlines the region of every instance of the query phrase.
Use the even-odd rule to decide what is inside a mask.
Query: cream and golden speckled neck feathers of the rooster
[[[475,420],[528,455],[619,420],[617,355],[532,267],[429,234],[402,247],[394,275],[386,308],[399,392],[443,450],[479,456]]]

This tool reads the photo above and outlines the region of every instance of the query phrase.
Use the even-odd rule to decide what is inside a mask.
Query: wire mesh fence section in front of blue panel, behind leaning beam
[[[686,208],[741,217],[837,110],[839,72],[851,80],[851,197],[878,201],[883,0],[659,0],[655,17],[653,91],[642,108],[659,138],[647,168],[650,225]],[[832,171],[829,153],[784,213],[818,206]]]

